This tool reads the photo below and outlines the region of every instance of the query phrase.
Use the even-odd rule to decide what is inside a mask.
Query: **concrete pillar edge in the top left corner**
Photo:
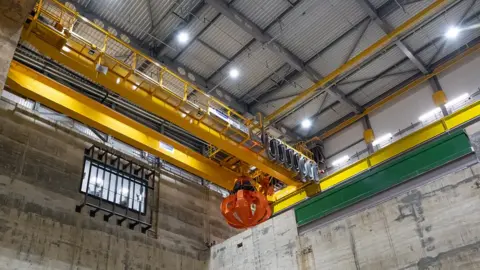
[[[23,23],[35,2],[35,0],[2,0],[0,3],[0,95],[5,86]]]

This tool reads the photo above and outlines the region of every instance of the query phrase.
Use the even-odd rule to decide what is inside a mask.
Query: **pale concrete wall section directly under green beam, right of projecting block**
[[[480,165],[300,237],[303,269],[478,269]]]

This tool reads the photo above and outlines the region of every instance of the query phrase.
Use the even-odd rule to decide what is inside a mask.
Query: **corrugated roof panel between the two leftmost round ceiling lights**
[[[225,63],[225,59],[198,41],[178,58],[178,61],[204,78],[208,78]]]

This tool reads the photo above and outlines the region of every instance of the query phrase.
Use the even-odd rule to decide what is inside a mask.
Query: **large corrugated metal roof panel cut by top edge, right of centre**
[[[268,32],[307,61],[365,17],[355,0],[305,0]]]

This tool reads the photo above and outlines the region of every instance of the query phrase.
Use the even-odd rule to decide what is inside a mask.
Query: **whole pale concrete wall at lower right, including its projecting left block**
[[[300,236],[281,214],[214,247],[210,269],[480,269],[479,213],[477,163]]]

